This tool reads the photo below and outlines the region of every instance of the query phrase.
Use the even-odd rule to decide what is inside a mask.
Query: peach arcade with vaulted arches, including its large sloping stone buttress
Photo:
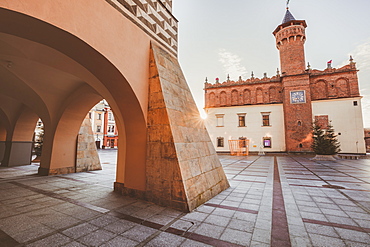
[[[40,174],[74,172],[78,129],[105,98],[120,133],[116,191],[189,211],[229,186],[177,59],[108,3],[7,1],[0,21],[0,102],[45,124]]]

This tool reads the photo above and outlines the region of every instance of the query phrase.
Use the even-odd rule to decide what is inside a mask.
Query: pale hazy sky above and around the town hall
[[[370,1],[290,0],[296,20],[305,20],[306,63],[324,70],[349,63],[358,77],[364,127],[370,128]],[[179,20],[178,57],[195,102],[204,107],[204,81],[268,77],[280,70],[272,32],[281,24],[286,0],[173,0]]]

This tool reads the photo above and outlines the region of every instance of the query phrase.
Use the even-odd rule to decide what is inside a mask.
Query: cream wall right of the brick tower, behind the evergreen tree
[[[354,106],[353,101],[358,105]],[[328,115],[335,133],[341,133],[341,153],[366,153],[361,109],[361,97],[312,102],[313,117]]]

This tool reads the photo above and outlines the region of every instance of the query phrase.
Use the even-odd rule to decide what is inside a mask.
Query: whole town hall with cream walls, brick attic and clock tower
[[[216,151],[228,140],[248,139],[249,151],[311,152],[312,123],[331,124],[341,153],[364,154],[364,128],[356,64],[324,70],[306,67],[306,21],[287,9],[273,35],[280,70],[271,78],[205,83],[206,127]]]

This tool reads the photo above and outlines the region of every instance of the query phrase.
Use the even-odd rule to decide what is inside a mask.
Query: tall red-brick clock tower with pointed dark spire
[[[306,22],[295,20],[287,8],[282,24],[273,32],[280,52],[287,152],[311,151],[310,79],[304,56],[306,27]]]

